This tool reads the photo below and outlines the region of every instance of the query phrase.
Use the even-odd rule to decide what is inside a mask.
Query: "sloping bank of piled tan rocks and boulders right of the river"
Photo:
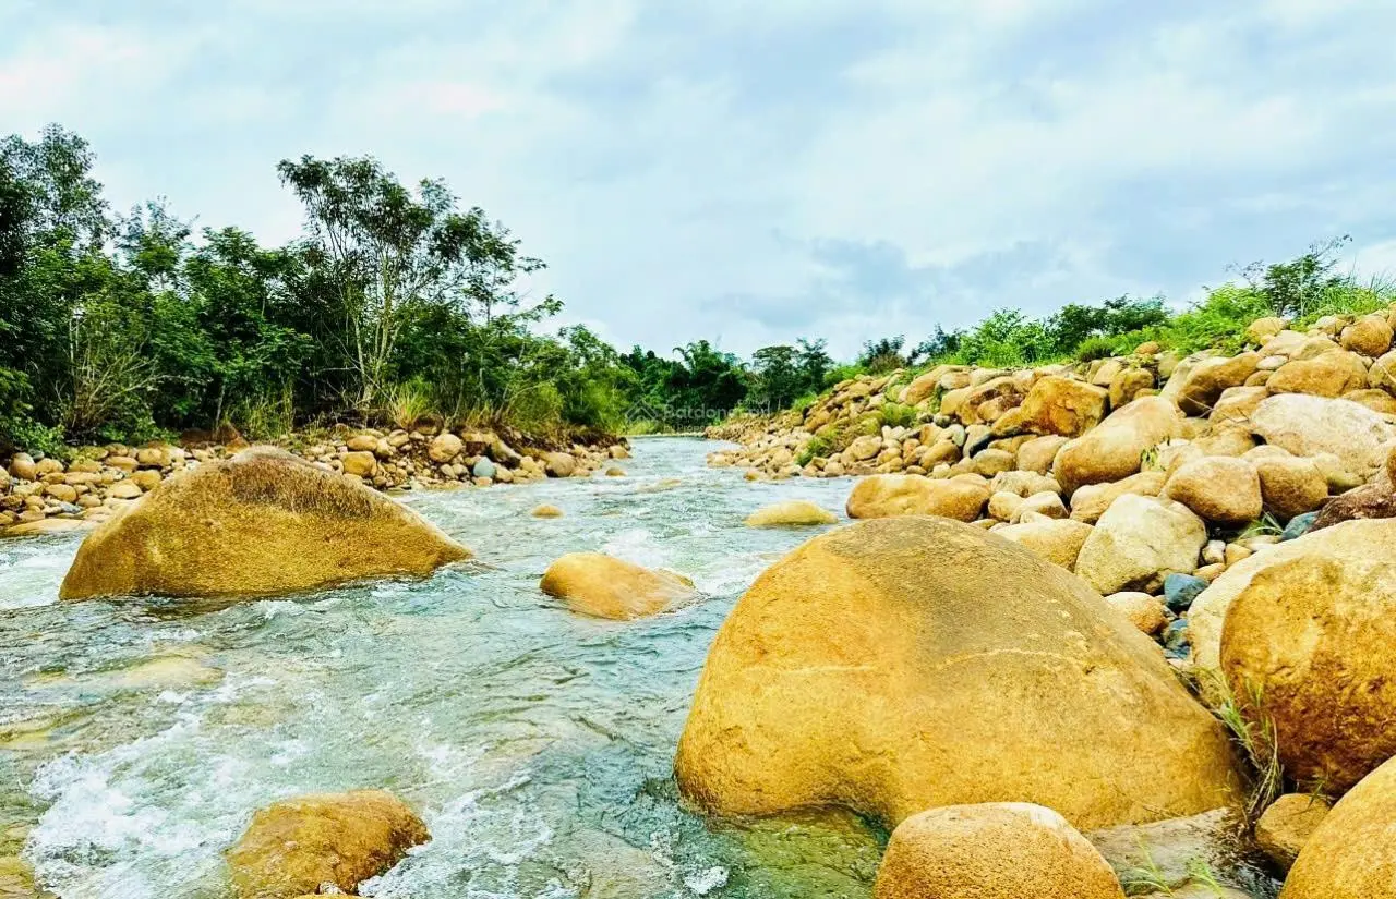
[[[804,413],[729,422],[743,446],[709,464],[868,475],[850,517],[976,523],[1075,571],[1184,658],[1178,616],[1231,566],[1311,527],[1396,514],[1389,318],[1304,333],[1261,319],[1258,348],[1237,355],[1145,344],[1075,367],[861,376]]]

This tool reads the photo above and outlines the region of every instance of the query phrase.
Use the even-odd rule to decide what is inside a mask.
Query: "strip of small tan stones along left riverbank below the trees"
[[[522,435],[518,435],[522,438]],[[630,456],[624,442],[528,446],[515,450],[493,431],[353,431],[336,427],[324,439],[292,440],[286,449],[325,471],[380,491],[433,485],[518,484],[543,478],[624,474],[614,460]],[[226,443],[191,446],[82,447],[70,461],[15,453],[0,464],[0,535],[20,537],[98,524],[155,489],[165,478],[247,449]]]

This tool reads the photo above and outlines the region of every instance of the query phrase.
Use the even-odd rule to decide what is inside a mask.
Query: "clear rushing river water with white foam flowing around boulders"
[[[433,840],[369,896],[867,896],[884,835],[705,820],[670,774],[718,626],[817,532],[743,517],[842,512],[849,482],[747,484],[705,467],[715,443],[635,443],[624,478],[405,495],[477,553],[424,581],[68,605],[80,534],[0,544],[0,860],[22,854],[63,899],[226,899],[221,852],[255,808],[385,787]],[[565,517],[530,517],[539,503]],[[574,551],[674,569],[705,599],[570,613],[537,580]]]

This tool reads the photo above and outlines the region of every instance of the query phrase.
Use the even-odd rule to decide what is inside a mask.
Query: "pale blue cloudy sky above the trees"
[[[914,343],[1396,269],[1390,0],[0,0],[0,132],[112,201],[299,230],[278,159],[445,177],[620,344]]]

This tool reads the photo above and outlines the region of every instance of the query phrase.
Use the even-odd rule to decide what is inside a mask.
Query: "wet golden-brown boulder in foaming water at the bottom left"
[[[253,815],[228,866],[242,899],[290,899],[325,884],[353,893],[429,839],[422,820],[383,790],[297,796]]]

